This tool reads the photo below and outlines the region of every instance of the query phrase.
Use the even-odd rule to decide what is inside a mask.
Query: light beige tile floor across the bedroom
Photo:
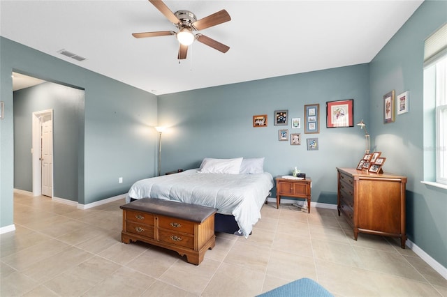
[[[80,210],[15,194],[0,236],[0,296],[256,296],[309,277],[335,296],[447,296],[447,280],[395,239],[353,231],[337,211],[270,203],[248,239],[217,234],[200,266],[120,242],[124,200]]]

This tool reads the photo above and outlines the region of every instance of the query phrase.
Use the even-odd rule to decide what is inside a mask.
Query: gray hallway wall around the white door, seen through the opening
[[[78,201],[79,169],[84,168],[84,91],[45,82],[14,92],[14,188],[33,191],[33,112],[53,109],[54,197]]]

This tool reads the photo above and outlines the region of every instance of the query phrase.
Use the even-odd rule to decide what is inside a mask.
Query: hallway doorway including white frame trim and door
[[[32,114],[33,196],[53,197],[53,110]]]

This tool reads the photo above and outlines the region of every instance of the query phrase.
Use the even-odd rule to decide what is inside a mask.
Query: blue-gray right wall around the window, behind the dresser
[[[372,140],[387,157],[386,168],[408,176],[409,239],[447,267],[447,190],[420,183],[425,174],[425,149],[434,148],[434,144],[423,143],[424,40],[445,22],[447,1],[425,1],[376,55],[370,63],[369,119]],[[395,123],[384,124],[383,95],[391,90],[396,96],[408,90],[410,109],[406,114],[396,114]],[[434,126],[427,129],[434,131]]]

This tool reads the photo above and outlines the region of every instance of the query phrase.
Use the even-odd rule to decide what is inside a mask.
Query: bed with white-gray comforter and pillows
[[[263,172],[263,158],[243,160],[205,158],[197,169],[142,179],[132,185],[126,202],[159,198],[214,207],[216,231],[233,233],[235,227],[238,234],[247,238],[261,218],[261,208],[274,182],[272,174]],[[257,167],[252,160],[256,160]],[[228,162],[235,165],[231,167]],[[249,162],[251,165],[247,165]]]

